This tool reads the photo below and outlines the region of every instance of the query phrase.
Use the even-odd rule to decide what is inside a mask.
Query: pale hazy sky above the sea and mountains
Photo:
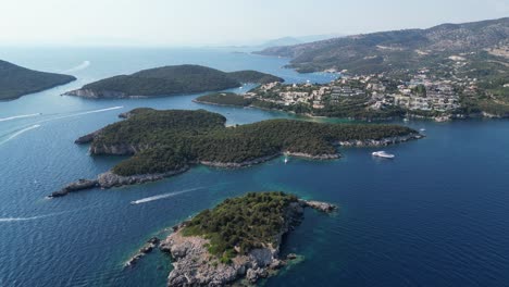
[[[509,0],[0,0],[0,45],[250,45],[509,15]]]

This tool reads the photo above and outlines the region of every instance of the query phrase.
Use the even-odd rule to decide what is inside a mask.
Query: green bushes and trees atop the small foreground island
[[[209,252],[228,263],[237,253],[276,244],[287,208],[297,201],[297,197],[283,192],[249,192],[200,212],[183,234],[210,239]]]

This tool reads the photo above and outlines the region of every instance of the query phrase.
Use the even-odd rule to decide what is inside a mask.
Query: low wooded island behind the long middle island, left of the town
[[[216,91],[240,87],[246,83],[266,84],[283,78],[257,72],[226,73],[200,65],[173,65],[144,70],[87,84],[64,95],[83,98],[148,98]]]

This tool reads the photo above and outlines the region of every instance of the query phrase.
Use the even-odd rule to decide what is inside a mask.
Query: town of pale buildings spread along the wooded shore
[[[462,65],[462,58],[455,57],[455,65]],[[323,109],[345,107],[351,102],[373,112],[398,108],[408,115],[446,121],[461,107],[461,97],[476,95],[477,79],[457,77],[454,74],[437,76],[427,68],[406,75],[406,79],[387,73],[348,75],[348,71],[327,70],[338,78],[328,84],[286,85],[269,83],[244,95],[275,107],[306,107],[311,114],[320,115]],[[509,86],[509,85],[508,85]]]

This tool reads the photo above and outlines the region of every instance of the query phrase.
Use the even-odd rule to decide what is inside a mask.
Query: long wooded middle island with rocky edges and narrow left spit
[[[311,160],[338,159],[337,146],[386,146],[422,137],[399,125],[331,124],[269,120],[225,126],[226,118],[204,110],[135,109],[124,121],[76,139],[92,155],[132,155],[96,179],[80,179],[50,197],[95,187],[111,188],[159,180],[196,164],[235,169],[282,154]]]

